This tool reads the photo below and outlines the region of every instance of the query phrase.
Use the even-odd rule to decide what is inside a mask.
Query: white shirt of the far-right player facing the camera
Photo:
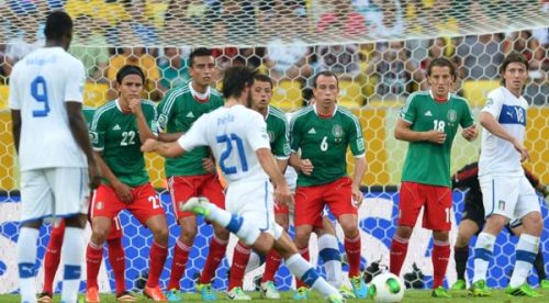
[[[526,133],[526,110],[528,103],[520,97],[516,98],[506,88],[492,90],[486,98],[482,112],[491,113],[507,133],[524,143]],[[479,176],[523,176],[520,153],[513,144],[502,139],[486,128],[482,130],[481,156],[479,159]]]

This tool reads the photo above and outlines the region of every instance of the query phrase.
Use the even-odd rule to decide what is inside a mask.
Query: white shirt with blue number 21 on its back
[[[203,114],[178,143],[184,150],[210,146],[228,184],[269,180],[256,157],[257,149],[270,149],[267,124],[260,113],[244,105]]]

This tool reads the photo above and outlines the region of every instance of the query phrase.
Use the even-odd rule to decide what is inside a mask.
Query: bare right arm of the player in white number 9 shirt
[[[93,149],[91,148],[88,126],[86,125],[86,120],[82,114],[82,103],[65,102],[65,106],[67,108],[70,133],[88,158],[89,186],[94,189],[101,183],[101,170],[93,155]]]

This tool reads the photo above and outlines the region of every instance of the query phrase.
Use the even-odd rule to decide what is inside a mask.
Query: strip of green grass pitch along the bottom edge
[[[410,303],[429,303],[429,302],[452,302],[452,303],[458,303],[458,302],[468,302],[468,303],[473,303],[473,302],[479,302],[479,303],[489,303],[489,302],[503,302],[503,303],[520,303],[520,302],[549,302],[549,290],[540,290],[540,292],[544,294],[542,298],[539,299],[529,299],[529,298],[513,298],[508,296],[505,294],[504,290],[494,290],[494,293],[491,298],[468,298],[467,292],[455,292],[452,293],[453,298],[452,299],[433,299],[430,298],[430,291],[428,290],[408,290],[406,291],[404,295],[404,300],[402,302],[410,302]],[[293,292],[282,292],[282,299],[281,300],[266,300],[266,299],[260,299],[259,293],[257,292],[247,292],[248,294],[251,295],[253,301],[258,302],[294,302],[293,298]],[[216,302],[233,302],[231,300],[227,300],[224,298],[224,293],[217,292],[217,300]],[[152,302],[150,300],[147,300],[143,298],[141,294],[138,294],[138,302]],[[195,293],[187,293],[184,294],[183,302],[201,302],[200,295]],[[56,295],[54,298],[54,302],[59,302],[60,298]],[[2,303],[19,303],[20,298],[19,295],[14,294],[1,294],[0,295],[0,302]],[[81,302],[83,301],[83,296],[81,296]],[[103,294],[101,295],[101,302],[102,303],[114,303],[116,302],[114,295],[110,294]],[[324,302],[322,298],[317,293],[312,293],[312,296],[310,298],[309,302]],[[368,299],[368,300],[348,300],[348,302],[373,302],[373,300]]]

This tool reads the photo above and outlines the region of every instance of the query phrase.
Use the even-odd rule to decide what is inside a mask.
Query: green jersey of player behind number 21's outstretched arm
[[[223,106],[221,94],[209,88],[209,98],[198,100],[191,91],[191,82],[168,91],[158,105],[158,122],[167,133],[186,133],[201,115]],[[177,158],[166,159],[166,176],[200,176],[209,173],[202,167],[202,158],[210,156],[208,147],[197,147]]]

